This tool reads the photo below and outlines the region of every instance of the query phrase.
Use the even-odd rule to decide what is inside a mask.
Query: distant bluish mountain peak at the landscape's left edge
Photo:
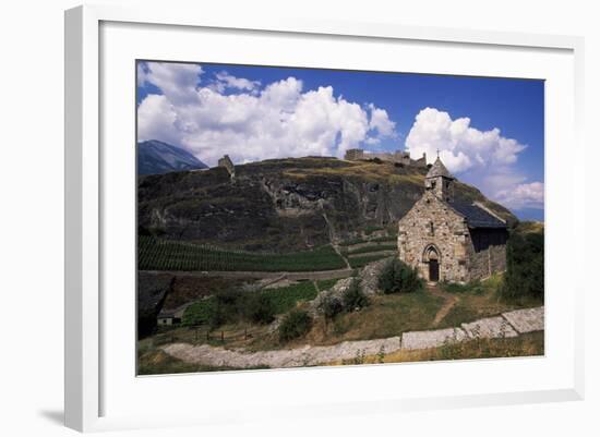
[[[182,148],[156,139],[137,143],[137,174],[206,168],[208,166]]]

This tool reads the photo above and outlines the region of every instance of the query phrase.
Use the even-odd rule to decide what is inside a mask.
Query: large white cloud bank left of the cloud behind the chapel
[[[208,165],[224,154],[237,162],[341,157],[362,142],[395,135],[385,110],[348,101],[332,86],[304,92],[302,81],[288,77],[260,89],[227,72],[205,78],[195,64],[153,62],[142,73],[163,94],[140,104],[139,139],[180,145]]]

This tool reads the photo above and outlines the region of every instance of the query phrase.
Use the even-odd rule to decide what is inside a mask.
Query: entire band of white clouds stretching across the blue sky
[[[343,157],[349,148],[389,148],[396,123],[384,108],[356,102],[328,84],[304,89],[301,80],[261,83],[199,64],[141,63],[137,83],[152,84],[139,106],[139,141],[181,146],[209,166],[227,154],[235,162],[308,155]],[[401,98],[401,96],[398,96]],[[479,130],[467,117],[427,107],[405,141],[413,158],[440,156],[448,170],[513,208],[543,208],[543,183],[518,170],[526,145],[497,128]],[[398,145],[398,148],[401,146]],[[463,177],[461,177],[463,173]]]

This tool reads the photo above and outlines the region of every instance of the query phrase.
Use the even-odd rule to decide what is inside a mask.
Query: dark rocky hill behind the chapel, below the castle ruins
[[[250,251],[295,251],[397,231],[421,197],[427,168],[307,157],[139,179],[141,232]],[[455,196],[516,218],[473,186]]]

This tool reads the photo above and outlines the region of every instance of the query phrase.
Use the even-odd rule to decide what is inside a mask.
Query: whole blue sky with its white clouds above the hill
[[[440,149],[458,179],[543,220],[543,81],[141,62],[137,83],[139,139],[208,165]]]

